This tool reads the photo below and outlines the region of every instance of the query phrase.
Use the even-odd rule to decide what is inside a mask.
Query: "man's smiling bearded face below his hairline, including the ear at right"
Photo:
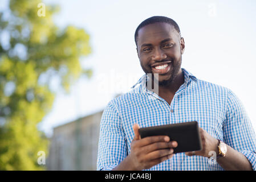
[[[159,73],[159,86],[169,85],[178,75],[184,48],[184,39],[168,23],[149,24],[138,32],[141,68],[145,73]]]

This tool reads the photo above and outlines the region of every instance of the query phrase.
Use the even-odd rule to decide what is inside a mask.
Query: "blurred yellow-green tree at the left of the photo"
[[[46,6],[39,16],[40,2],[10,0],[0,12],[0,170],[45,169],[38,151],[47,156],[49,142],[37,125],[54,101],[50,80],[58,76],[68,92],[80,76],[92,75],[79,61],[91,52],[89,35],[58,28],[52,21],[58,6]]]

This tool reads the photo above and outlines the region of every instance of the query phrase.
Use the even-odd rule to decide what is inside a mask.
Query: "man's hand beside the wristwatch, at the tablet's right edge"
[[[188,156],[200,155],[209,158],[211,154],[210,151],[215,151],[218,155],[218,140],[211,135],[209,135],[204,129],[200,129],[200,135],[202,139],[202,150],[196,152],[185,152]]]

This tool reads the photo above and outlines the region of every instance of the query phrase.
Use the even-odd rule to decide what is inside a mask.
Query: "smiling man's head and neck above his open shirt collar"
[[[173,20],[169,20],[171,23],[152,23],[153,20],[141,23],[135,32],[137,54],[145,73],[159,74],[159,96],[170,105],[174,94],[184,83],[181,55],[185,43],[180,28]]]

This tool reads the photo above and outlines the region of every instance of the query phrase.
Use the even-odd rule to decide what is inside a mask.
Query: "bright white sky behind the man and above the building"
[[[94,71],[91,80],[81,78],[70,94],[58,90],[52,111],[39,125],[48,136],[55,126],[104,109],[115,93],[127,92],[144,74],[134,32],[154,15],[168,16],[180,26],[185,40],[181,67],[233,90],[256,131],[256,1],[43,2],[60,5],[54,17],[60,27],[72,24],[90,34],[92,53],[81,63]]]

